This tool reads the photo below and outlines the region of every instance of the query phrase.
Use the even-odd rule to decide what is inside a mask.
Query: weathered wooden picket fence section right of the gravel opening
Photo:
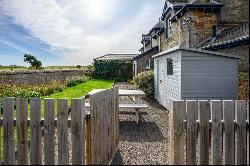
[[[169,164],[249,164],[248,107],[246,101],[172,102]]]

